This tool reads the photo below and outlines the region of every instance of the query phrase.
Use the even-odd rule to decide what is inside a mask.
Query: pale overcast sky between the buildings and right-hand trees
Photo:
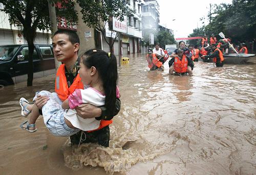
[[[175,38],[182,38],[193,33],[197,26],[202,27],[200,18],[206,17],[209,4],[231,4],[232,0],[158,0],[158,3],[160,24],[172,29]]]

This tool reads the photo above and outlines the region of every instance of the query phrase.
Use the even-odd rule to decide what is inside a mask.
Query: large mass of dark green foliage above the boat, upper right
[[[207,16],[211,19],[210,23],[203,27],[207,36],[223,32],[234,42],[256,38],[255,0],[233,0],[229,5],[214,5],[214,9]]]

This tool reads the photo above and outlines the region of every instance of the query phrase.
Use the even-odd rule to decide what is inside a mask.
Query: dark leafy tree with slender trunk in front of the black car
[[[53,1],[51,1],[53,2]],[[47,0],[0,0],[0,3],[4,5],[4,12],[9,15],[10,24],[17,26],[24,35],[24,38],[28,42],[29,47],[29,70],[27,86],[33,85],[33,60],[32,55],[34,51],[34,40],[36,37],[36,30],[49,30],[50,18]],[[73,1],[62,1],[66,5],[66,9],[60,13],[67,19],[72,19],[76,22],[77,15],[73,9],[69,9],[73,4]],[[66,4],[67,3],[67,4]],[[69,13],[67,13],[67,11]]]

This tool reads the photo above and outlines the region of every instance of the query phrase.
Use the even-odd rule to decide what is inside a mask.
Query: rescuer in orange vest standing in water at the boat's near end
[[[212,44],[211,49],[214,51],[211,55],[203,55],[205,59],[213,58],[212,62],[216,63],[216,67],[222,67],[224,64],[224,57],[220,50],[220,48],[217,47],[218,44]]]

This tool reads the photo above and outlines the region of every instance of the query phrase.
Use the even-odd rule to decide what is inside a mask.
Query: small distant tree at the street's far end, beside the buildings
[[[157,39],[155,39],[155,43],[159,43],[161,47],[165,47],[166,44],[176,44],[174,39],[174,35],[170,34],[167,31],[158,32]]]

